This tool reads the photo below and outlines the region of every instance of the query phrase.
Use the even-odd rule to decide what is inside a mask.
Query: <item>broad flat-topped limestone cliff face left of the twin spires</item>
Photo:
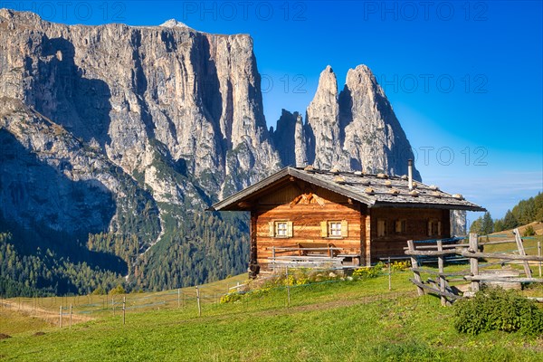
[[[67,26],[2,10],[0,43],[0,97],[98,143],[130,175],[153,172],[150,140],[215,195],[280,167],[248,35],[199,33],[176,21]],[[233,170],[243,179],[229,181]]]

